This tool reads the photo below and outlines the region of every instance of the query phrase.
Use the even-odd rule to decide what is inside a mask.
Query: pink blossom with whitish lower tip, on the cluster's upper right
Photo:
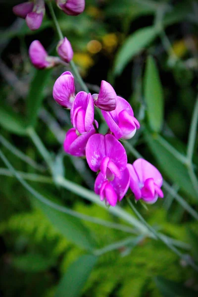
[[[110,131],[113,132],[117,139],[130,139],[135,135],[136,129],[140,128],[140,124],[134,117],[131,105],[119,96],[117,99],[115,110],[101,110],[101,113]]]

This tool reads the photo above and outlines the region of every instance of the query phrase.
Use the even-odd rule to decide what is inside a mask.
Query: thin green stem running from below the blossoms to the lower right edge
[[[137,217],[140,219],[140,221],[145,224],[145,226],[148,228],[150,232],[153,233],[153,235],[161,240],[167,247],[169,247],[175,254],[177,254],[181,259],[185,260],[192,268],[194,268],[196,271],[198,271],[198,266],[193,262],[193,260],[190,260],[188,257],[186,257],[184,254],[182,254],[176,247],[174,247],[167,238],[164,236],[161,236],[161,234],[157,233],[154,228],[152,228],[146,220],[143,218],[143,216],[139,213],[139,211],[136,209],[136,207],[133,205],[131,200],[127,198],[127,202],[129,203],[132,210],[135,212]]]

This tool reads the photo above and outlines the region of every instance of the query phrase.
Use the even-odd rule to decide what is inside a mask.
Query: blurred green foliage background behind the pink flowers
[[[92,218],[88,222],[36,200],[0,160],[0,296],[197,296],[198,275],[187,261],[198,264],[198,224],[191,215],[191,209],[198,211],[197,134],[192,160],[188,143],[198,92],[197,1],[86,0],[85,12],[77,17],[54,5],[91,92],[108,80],[140,120],[128,160],[135,160],[136,148],[161,170],[174,195],[164,185],[163,200],[148,210],[137,203],[137,209],[173,240],[186,256],[182,259],[141,233],[136,221],[130,224],[134,214],[125,199],[116,216],[91,202],[92,192],[87,200],[87,192],[83,198],[75,194],[78,185],[93,190],[95,175],[85,160],[62,152],[70,115],[53,102],[52,87],[65,67],[35,71],[28,58],[33,40],[53,54],[58,37],[48,9],[42,27],[31,32],[12,14],[16,3],[0,4],[0,134],[15,147],[0,138],[0,149],[39,195]],[[81,90],[78,83],[76,89]],[[47,150],[38,149],[37,135]],[[75,184],[63,188],[57,177]],[[175,192],[179,198],[174,199]],[[122,210],[126,220],[119,217]],[[106,221],[124,224],[132,233],[107,228]],[[132,241],[119,246],[129,235]],[[112,248],[114,243],[119,247]]]

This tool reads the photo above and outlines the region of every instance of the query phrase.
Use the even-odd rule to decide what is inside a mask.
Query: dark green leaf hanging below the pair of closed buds
[[[27,97],[28,126],[34,126],[52,69],[36,70]]]

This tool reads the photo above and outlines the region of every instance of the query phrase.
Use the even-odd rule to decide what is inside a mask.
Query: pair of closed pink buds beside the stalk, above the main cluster
[[[59,41],[56,50],[59,57],[49,56],[40,41],[34,40],[29,48],[30,60],[38,69],[51,68],[62,61],[69,63],[72,60],[73,49],[66,37]]]

